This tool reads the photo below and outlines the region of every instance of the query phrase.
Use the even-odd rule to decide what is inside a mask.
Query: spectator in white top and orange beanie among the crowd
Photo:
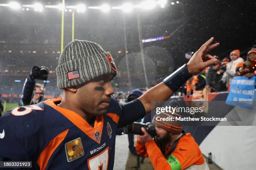
[[[236,73],[236,65],[239,62],[243,62],[243,58],[240,57],[240,50],[233,50],[230,52],[231,61],[227,63],[227,70],[224,72],[222,81],[226,84],[227,89],[230,88],[230,81],[235,76]]]

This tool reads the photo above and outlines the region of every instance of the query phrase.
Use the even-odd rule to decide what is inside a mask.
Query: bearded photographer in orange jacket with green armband
[[[209,170],[192,135],[182,130],[181,121],[157,121],[166,117],[175,120],[180,116],[167,112],[155,115],[156,136],[152,140],[147,131],[141,128],[144,135],[137,136],[137,153],[149,157],[155,170]]]

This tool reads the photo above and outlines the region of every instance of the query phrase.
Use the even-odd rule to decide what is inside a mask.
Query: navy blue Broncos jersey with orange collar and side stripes
[[[112,170],[117,127],[145,115],[143,104],[111,97],[94,127],[56,104],[60,99],[15,107],[0,117],[0,161],[32,161],[32,169]]]

